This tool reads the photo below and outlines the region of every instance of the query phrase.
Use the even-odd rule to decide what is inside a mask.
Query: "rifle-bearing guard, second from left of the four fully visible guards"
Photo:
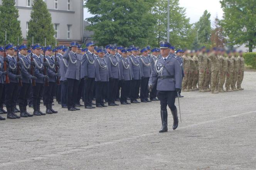
[[[27,45],[22,44],[19,47],[20,55],[18,56],[21,61],[21,75],[22,75],[22,87],[20,87],[20,93],[18,97],[20,117],[32,117],[27,112],[28,98],[31,91],[31,80],[36,80],[37,77],[30,74],[30,65],[35,67],[35,62],[31,62],[29,55],[27,55]]]

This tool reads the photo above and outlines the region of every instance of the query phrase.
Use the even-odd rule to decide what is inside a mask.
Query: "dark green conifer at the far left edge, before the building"
[[[0,44],[5,42],[5,31],[7,32],[7,43],[11,42],[17,44],[22,42],[22,32],[20,28],[19,11],[15,8],[15,2],[13,0],[2,0],[2,6],[0,6]]]

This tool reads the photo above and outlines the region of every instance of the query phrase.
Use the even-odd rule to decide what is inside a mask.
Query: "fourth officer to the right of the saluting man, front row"
[[[132,68],[128,59],[128,48],[122,49],[122,58],[119,60],[120,81],[121,81],[121,105],[130,105],[127,98],[130,92],[130,82],[133,78]]]

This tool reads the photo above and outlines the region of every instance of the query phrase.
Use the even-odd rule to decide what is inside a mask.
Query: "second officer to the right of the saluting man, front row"
[[[104,87],[107,86],[109,81],[109,74],[111,74],[111,70],[108,69],[108,63],[106,62],[105,48],[98,47],[97,48],[98,57],[95,61],[96,66],[96,107],[107,107],[104,105]]]

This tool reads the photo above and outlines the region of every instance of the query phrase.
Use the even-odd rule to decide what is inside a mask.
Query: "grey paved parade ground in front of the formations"
[[[1,121],[0,169],[256,169],[255,77],[239,92],[184,92],[168,133],[159,102]]]

